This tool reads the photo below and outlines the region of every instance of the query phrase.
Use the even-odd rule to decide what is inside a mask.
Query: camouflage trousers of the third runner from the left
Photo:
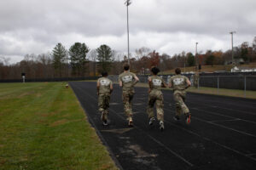
[[[160,90],[153,90],[150,92],[150,94],[148,94],[148,108],[147,108],[148,118],[154,117],[154,103],[155,103],[157,119],[159,121],[164,121],[163,102],[164,102],[164,98]]]

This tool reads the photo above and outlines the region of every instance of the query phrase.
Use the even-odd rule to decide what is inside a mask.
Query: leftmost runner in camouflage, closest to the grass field
[[[108,79],[108,72],[103,71],[102,77],[97,81],[98,107],[102,113],[103,125],[108,125],[108,108],[110,94],[113,92],[112,81]]]

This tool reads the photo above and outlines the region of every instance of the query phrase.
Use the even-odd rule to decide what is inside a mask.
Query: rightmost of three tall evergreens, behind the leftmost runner
[[[98,71],[110,71],[111,63],[113,62],[113,51],[108,45],[101,45],[101,47],[96,49],[97,60],[98,60]]]

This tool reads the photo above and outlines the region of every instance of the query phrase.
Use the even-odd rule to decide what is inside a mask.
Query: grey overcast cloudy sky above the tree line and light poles
[[[160,54],[227,50],[256,36],[255,0],[132,0],[129,6],[131,52],[147,47]],[[105,43],[126,52],[124,0],[1,0],[0,56],[10,63],[25,54],[47,53],[61,42],[67,49],[85,42]]]

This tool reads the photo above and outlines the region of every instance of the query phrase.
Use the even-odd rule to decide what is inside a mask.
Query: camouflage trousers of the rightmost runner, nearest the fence
[[[186,99],[186,91],[184,90],[176,90],[173,94],[175,106],[176,106],[176,116],[181,116],[181,114],[188,115],[189,108],[184,104]]]

